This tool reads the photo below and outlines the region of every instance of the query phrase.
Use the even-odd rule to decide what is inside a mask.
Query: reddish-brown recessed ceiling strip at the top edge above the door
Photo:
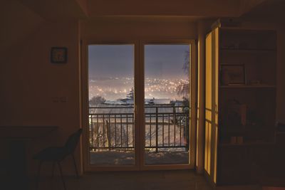
[[[90,16],[238,16],[240,0],[88,0]]]

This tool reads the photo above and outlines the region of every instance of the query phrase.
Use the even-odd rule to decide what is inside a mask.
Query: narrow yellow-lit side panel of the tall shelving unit
[[[204,169],[209,179],[217,181],[219,28],[206,36],[205,148]]]

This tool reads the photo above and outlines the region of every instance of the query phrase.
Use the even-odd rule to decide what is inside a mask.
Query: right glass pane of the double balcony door
[[[145,166],[190,164],[190,51],[145,44]]]

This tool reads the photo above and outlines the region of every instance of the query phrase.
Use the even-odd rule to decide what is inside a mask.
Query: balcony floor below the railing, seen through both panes
[[[145,152],[146,164],[187,164],[189,152]],[[90,152],[92,165],[133,165],[134,153],[118,150]]]

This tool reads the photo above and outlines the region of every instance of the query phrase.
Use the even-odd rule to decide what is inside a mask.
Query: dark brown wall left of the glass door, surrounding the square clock
[[[58,126],[58,130],[47,137],[26,142],[31,172],[38,164],[31,159],[35,152],[44,147],[63,145],[69,134],[81,125],[78,31],[78,21],[46,21],[33,35],[16,43],[12,51],[2,56],[0,125]],[[68,48],[68,62],[51,63],[51,47]],[[79,152],[78,147],[78,165],[81,161]],[[68,160],[63,163],[65,174],[74,173],[73,162]]]

